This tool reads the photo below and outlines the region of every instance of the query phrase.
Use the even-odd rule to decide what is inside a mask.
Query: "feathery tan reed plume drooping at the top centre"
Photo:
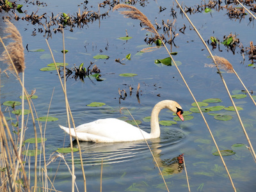
[[[118,10],[119,8],[125,8],[125,9],[128,10],[128,11],[120,12],[122,15],[125,15],[126,18],[140,20],[141,21],[141,26],[145,26],[145,28],[143,28],[143,29],[154,33],[156,36],[159,36],[159,34],[156,31],[156,28],[154,28],[154,26],[152,25],[150,20],[148,20],[146,15],[141,13],[140,10],[138,10],[137,8],[135,8],[134,6],[131,6],[131,5],[117,4],[116,6],[114,6],[113,11]]]

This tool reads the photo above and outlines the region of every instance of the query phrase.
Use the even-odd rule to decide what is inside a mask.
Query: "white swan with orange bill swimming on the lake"
[[[137,141],[151,138],[159,138],[160,127],[158,115],[161,109],[170,109],[176,113],[179,118],[184,121],[182,116],[183,110],[180,105],[173,100],[162,100],[154,106],[151,113],[151,132],[147,133],[138,127],[134,127],[127,122],[116,118],[105,118],[95,120],[88,124],[79,125],[76,127],[76,134],[79,141],[93,141],[99,143],[122,142],[122,141]],[[60,128],[69,134],[69,128],[60,125]],[[142,136],[142,134],[143,136]],[[71,129],[72,138],[76,139],[74,128]]]

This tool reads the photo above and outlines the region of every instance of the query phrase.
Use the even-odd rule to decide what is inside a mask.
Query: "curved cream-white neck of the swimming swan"
[[[156,106],[154,106],[152,113],[151,113],[151,119],[150,119],[150,125],[151,125],[151,132],[150,132],[150,138],[159,138],[160,136],[160,127],[159,127],[159,120],[158,115],[160,111],[164,108],[168,108],[171,111],[175,112],[175,108],[173,106],[172,100],[162,100],[161,102],[157,103]],[[170,106],[173,106],[173,109],[170,108]]]

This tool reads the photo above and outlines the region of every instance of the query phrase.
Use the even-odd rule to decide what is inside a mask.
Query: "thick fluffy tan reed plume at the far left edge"
[[[4,29],[4,32],[9,33],[9,35],[5,36],[4,38],[10,38],[13,40],[13,42],[10,42],[10,44],[6,46],[6,50],[3,51],[0,60],[8,64],[9,70],[15,72],[16,69],[19,74],[20,72],[24,72],[25,69],[22,37],[20,36],[18,29],[12,24],[12,22],[7,19],[4,21],[7,25]]]

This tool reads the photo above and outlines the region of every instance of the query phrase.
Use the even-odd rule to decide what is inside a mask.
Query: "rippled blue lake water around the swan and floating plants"
[[[76,14],[78,8],[83,10],[84,3],[80,1],[44,1],[47,6],[33,6],[26,4],[22,10],[28,10],[28,13],[35,12],[37,14],[47,13],[47,17],[51,17],[58,13]],[[180,2],[181,3],[181,2]],[[194,2],[193,2],[194,3]],[[199,3],[199,1],[198,1]],[[184,1],[187,6],[193,6],[191,1]],[[80,6],[79,6],[80,5]],[[96,2],[86,4],[88,10],[98,11]],[[170,16],[170,8],[172,2],[157,1],[147,2],[145,6],[135,5],[140,9],[148,19],[152,22],[156,20],[161,23],[162,19],[173,20]],[[159,6],[167,9],[159,13]],[[209,98],[219,98],[222,100],[218,104],[209,104],[209,106],[222,105],[225,107],[232,106],[228,99],[227,92],[221,82],[216,68],[204,67],[205,63],[212,64],[211,59],[207,58],[209,53],[206,51],[202,42],[191,29],[186,18],[179,14],[179,9],[174,6],[177,11],[177,20],[175,27],[182,28],[186,25],[185,34],[177,30],[179,35],[175,38],[177,47],[172,46],[172,52],[178,52],[173,56],[175,61],[180,61],[179,66],[184,78],[188,82],[189,87],[194,93],[196,100],[202,101]],[[100,12],[105,12],[108,8],[100,8]],[[4,15],[3,13],[1,13]],[[244,45],[249,47],[250,41],[255,42],[255,28],[252,21],[250,24],[248,17],[239,20],[228,19],[226,11],[209,13],[196,13],[189,15],[198,31],[204,38],[209,40],[210,36],[216,36],[220,40],[224,35],[231,32],[236,33],[237,38]],[[19,14],[22,17],[22,14]],[[49,19],[49,18],[48,18]],[[45,49],[44,52],[27,52],[26,70],[25,70],[25,86],[28,92],[36,89],[35,95],[38,99],[33,100],[38,116],[46,116],[51,101],[49,116],[57,117],[56,122],[47,122],[45,129],[45,154],[47,161],[51,161],[51,155],[55,150],[61,147],[70,147],[69,137],[65,135],[59,128],[59,124],[67,124],[67,115],[65,109],[65,99],[60,86],[56,71],[42,72],[40,68],[46,67],[52,63],[49,49],[45,42],[44,33],[36,33],[32,36],[32,31],[43,28],[38,24],[32,25],[24,20],[15,21],[13,24],[19,29],[23,38],[24,47],[28,44],[28,49]],[[1,26],[3,26],[1,24]],[[52,26],[51,29],[58,28]],[[128,41],[118,40],[118,37],[125,36],[125,29],[132,38]],[[1,36],[3,35],[1,29]],[[160,31],[162,33],[162,31]],[[136,120],[141,120],[141,129],[149,132],[150,123],[143,122],[143,118],[150,116],[151,109],[160,100],[171,99],[176,100],[182,106],[184,111],[189,111],[192,107],[193,99],[188,92],[184,82],[179,76],[174,66],[156,65],[154,60],[168,57],[166,50],[162,47],[154,52],[135,55],[141,49],[148,45],[144,42],[147,31],[142,30],[138,20],[124,18],[117,11],[109,11],[108,16],[104,19],[95,20],[83,28],[74,28],[73,32],[69,28],[65,28],[65,49],[66,62],[68,67],[74,64],[79,66],[84,63],[88,67],[90,62],[94,62],[100,68],[101,78],[104,81],[96,81],[95,78],[86,77],[84,82],[68,77],[67,79],[67,95],[70,109],[74,115],[76,125],[91,122],[99,118],[120,118],[127,116],[132,120],[131,116],[120,114],[120,108],[127,108],[131,111]],[[63,62],[62,34],[52,32],[51,38],[48,39],[56,62]],[[168,45],[170,48],[170,45]],[[253,90],[255,95],[255,68],[248,67],[250,61],[248,56],[243,61],[239,49],[236,54],[226,51],[224,45],[220,45],[222,52],[215,49],[212,54],[222,56],[232,63],[237,74],[241,77],[248,90]],[[1,50],[3,47],[1,47]],[[131,54],[131,61],[124,60],[125,65],[116,63],[115,60],[125,58],[127,54]],[[108,60],[95,60],[93,56],[97,54],[106,54]],[[3,66],[4,70],[6,65]],[[119,74],[134,73],[138,76],[121,77]],[[63,74],[63,73],[62,73]],[[237,80],[234,74],[223,73],[223,77],[227,82],[230,92],[233,94],[242,93],[243,86]],[[140,83],[140,103],[136,98],[136,88]],[[10,74],[7,78],[1,74],[1,104],[6,100],[20,100],[21,88],[15,77]],[[132,95],[129,95],[129,86],[134,88]],[[125,100],[119,100],[118,88],[125,89],[128,96]],[[53,96],[52,96],[53,94]],[[159,97],[160,96],[160,97]],[[237,106],[243,108],[239,111],[241,118],[248,131],[252,145],[256,145],[256,132],[253,129],[255,125],[255,106],[249,97],[244,99],[234,99]],[[104,102],[106,106],[100,108],[92,108],[86,106],[91,102]],[[6,109],[2,106],[2,111]],[[10,109],[11,110],[11,109]],[[213,116],[205,114],[205,118],[212,129],[212,133],[220,147],[220,150],[230,149],[236,143],[244,143],[248,145],[246,138],[241,129],[241,125],[237,120],[236,114],[230,111],[214,111],[214,113],[224,113],[232,115],[230,121],[224,122],[215,120]],[[194,118],[185,122],[177,122],[177,124],[161,126],[161,137],[156,140],[149,141],[153,154],[157,163],[164,174],[170,191],[179,190],[187,191],[186,175],[182,168],[179,167],[173,158],[184,154],[186,160],[186,168],[188,170],[189,184],[192,191],[234,191],[227,177],[227,173],[223,168],[220,157],[212,156],[216,151],[214,143],[211,140],[209,131],[202,120],[199,113],[192,114]],[[5,112],[5,116],[9,116]],[[15,116],[12,116],[13,118]],[[173,120],[172,113],[163,110],[159,116],[160,120]],[[44,127],[44,123],[42,123]],[[33,125],[31,117],[28,120],[28,130],[26,138],[33,138]],[[39,131],[38,131],[39,135]],[[74,141],[74,145],[76,142]],[[33,148],[33,144],[30,145]],[[81,143],[83,152],[84,170],[86,175],[86,187],[88,191],[100,190],[100,169],[103,161],[102,189],[104,191],[166,191],[163,179],[159,175],[156,163],[144,141],[133,143]],[[224,157],[228,170],[234,180],[237,191],[254,191],[255,190],[255,162],[248,150],[235,150],[236,155]],[[53,154],[54,156],[54,154]],[[83,175],[81,166],[78,163],[79,154],[74,154],[76,159],[76,184],[79,191],[83,191]],[[65,154],[65,161],[71,168],[70,154]],[[41,159],[42,160],[42,159]],[[33,157],[31,157],[31,166],[33,166]],[[43,161],[41,161],[43,163]],[[175,170],[175,171],[173,171]],[[56,173],[58,172],[58,173]],[[32,173],[33,174],[33,173]],[[67,165],[58,158],[56,161],[49,163],[47,166],[47,174],[49,179],[54,180],[54,188],[59,191],[70,191],[71,176],[68,172]],[[40,183],[39,183],[40,185]],[[51,188],[51,183],[48,184]],[[33,186],[33,178],[31,176],[31,186]]]

